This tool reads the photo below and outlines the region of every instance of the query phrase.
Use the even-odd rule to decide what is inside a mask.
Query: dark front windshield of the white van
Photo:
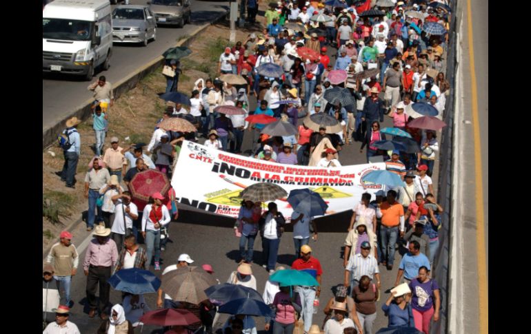
[[[90,41],[94,22],[69,19],[42,19],[43,39]]]

